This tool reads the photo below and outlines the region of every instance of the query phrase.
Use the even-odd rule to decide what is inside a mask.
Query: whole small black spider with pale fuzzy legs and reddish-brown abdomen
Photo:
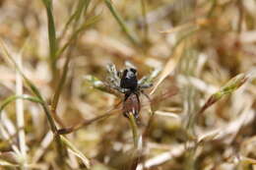
[[[117,71],[112,64],[108,65],[107,71],[109,73],[109,77],[107,78],[108,85],[124,93],[123,115],[128,117],[129,113],[132,113],[135,119],[138,120],[141,109],[140,94],[143,93],[149,98],[144,92],[144,89],[153,85],[150,77],[146,76],[138,80],[137,70],[135,68],[128,67],[123,71]]]

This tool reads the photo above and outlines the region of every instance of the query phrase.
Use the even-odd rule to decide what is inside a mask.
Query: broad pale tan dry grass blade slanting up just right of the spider
[[[171,55],[166,63],[166,65],[164,66],[163,70],[160,73],[160,77],[157,81],[157,83],[154,85],[152,91],[150,92],[150,94],[152,95],[156,89],[158,88],[158,86],[160,85],[160,83],[171,73],[174,71],[180,56],[182,54],[182,51],[184,49],[184,42],[180,42],[178,44],[178,46],[176,46],[176,48],[174,49],[174,53],[173,55]]]

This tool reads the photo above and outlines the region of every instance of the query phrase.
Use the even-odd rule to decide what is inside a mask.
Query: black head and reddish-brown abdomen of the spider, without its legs
[[[141,102],[139,98],[137,71],[133,68],[125,69],[121,77],[120,86],[127,89],[123,101],[124,116],[128,117],[128,114],[132,113],[138,119]]]

